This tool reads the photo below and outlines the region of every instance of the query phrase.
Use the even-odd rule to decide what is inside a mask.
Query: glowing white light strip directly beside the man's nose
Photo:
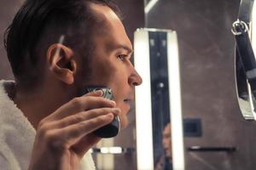
[[[134,65],[143,77],[136,88],[137,169],[153,170],[153,135],[148,31],[137,30],[134,37]]]

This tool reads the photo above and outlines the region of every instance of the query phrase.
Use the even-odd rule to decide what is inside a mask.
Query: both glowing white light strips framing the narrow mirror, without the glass
[[[172,167],[174,170],[184,170],[183,117],[177,34],[175,31],[155,29],[139,29],[135,32],[134,65],[143,77],[143,84],[136,88],[137,169],[154,169],[148,31],[167,32],[169,101],[172,126]]]

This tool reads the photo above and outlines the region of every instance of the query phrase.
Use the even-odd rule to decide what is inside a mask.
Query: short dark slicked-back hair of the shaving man
[[[4,46],[16,81],[34,86],[34,82],[42,79],[38,66],[42,44],[58,42],[63,34],[71,48],[78,48],[81,38],[86,37],[82,43],[85,47],[80,48],[84,50],[81,54],[86,55],[97,22],[89,3],[106,5],[119,15],[119,9],[109,0],[26,0],[4,35]],[[44,52],[46,49],[44,47]],[[88,62],[88,56],[84,57]]]

